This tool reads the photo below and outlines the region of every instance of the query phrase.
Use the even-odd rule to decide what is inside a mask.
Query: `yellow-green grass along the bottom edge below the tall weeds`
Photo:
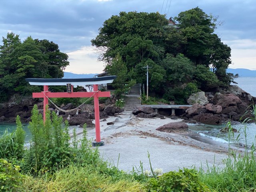
[[[28,176],[24,182],[25,191],[45,192],[142,192],[142,187],[135,180],[121,178],[114,181],[91,165],[70,165],[58,170],[51,178],[47,175],[41,178]]]

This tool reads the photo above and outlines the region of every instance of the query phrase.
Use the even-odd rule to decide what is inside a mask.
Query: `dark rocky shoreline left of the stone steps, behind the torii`
[[[17,99],[17,95],[10,98],[9,102],[0,104],[0,122],[15,122],[16,116],[19,115],[23,123],[30,122],[31,111],[33,106],[36,104],[39,109],[39,113],[43,114],[43,102],[40,99],[34,98],[20,98]],[[114,106],[114,101],[107,100],[106,103],[99,104],[100,108],[100,119],[108,118],[109,116],[116,116],[117,114],[124,111],[123,108]],[[50,104],[50,103],[49,103]],[[72,110],[75,108],[72,103],[66,105],[62,104],[60,106],[63,110]],[[90,104],[84,104],[81,108],[77,110],[62,112],[58,111],[51,104],[49,105],[49,110],[58,112],[59,116],[62,116],[64,120],[68,120],[70,126],[80,125],[83,126],[84,123],[87,127],[95,127],[92,120],[95,119],[94,116],[94,106]]]

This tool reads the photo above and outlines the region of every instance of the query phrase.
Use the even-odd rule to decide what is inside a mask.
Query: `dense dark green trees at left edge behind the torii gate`
[[[11,94],[31,94],[37,86],[29,86],[25,78],[62,78],[69,65],[68,55],[48,40],[26,38],[8,33],[0,45],[0,101]]]

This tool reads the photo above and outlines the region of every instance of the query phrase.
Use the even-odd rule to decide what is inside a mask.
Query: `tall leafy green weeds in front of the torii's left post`
[[[32,174],[53,171],[66,166],[70,158],[70,136],[68,122],[62,127],[63,119],[54,112],[46,111],[46,121],[39,114],[37,106],[32,109],[28,128],[32,134],[30,148],[25,158],[25,170]]]

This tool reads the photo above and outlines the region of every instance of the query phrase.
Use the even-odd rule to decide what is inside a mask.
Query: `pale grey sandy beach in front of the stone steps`
[[[183,167],[206,169],[208,166],[222,166],[227,157],[228,146],[207,138],[200,138],[193,133],[166,133],[156,128],[182,119],[146,119],[136,118],[132,114],[122,113],[100,122],[101,140],[104,146],[99,147],[101,156],[112,165],[124,171],[140,167],[143,169],[162,168],[163,172],[178,170]],[[107,122],[114,122],[107,125]],[[78,134],[82,128],[77,128]],[[79,135],[78,137],[81,137]],[[95,139],[95,129],[88,128],[88,138]]]

